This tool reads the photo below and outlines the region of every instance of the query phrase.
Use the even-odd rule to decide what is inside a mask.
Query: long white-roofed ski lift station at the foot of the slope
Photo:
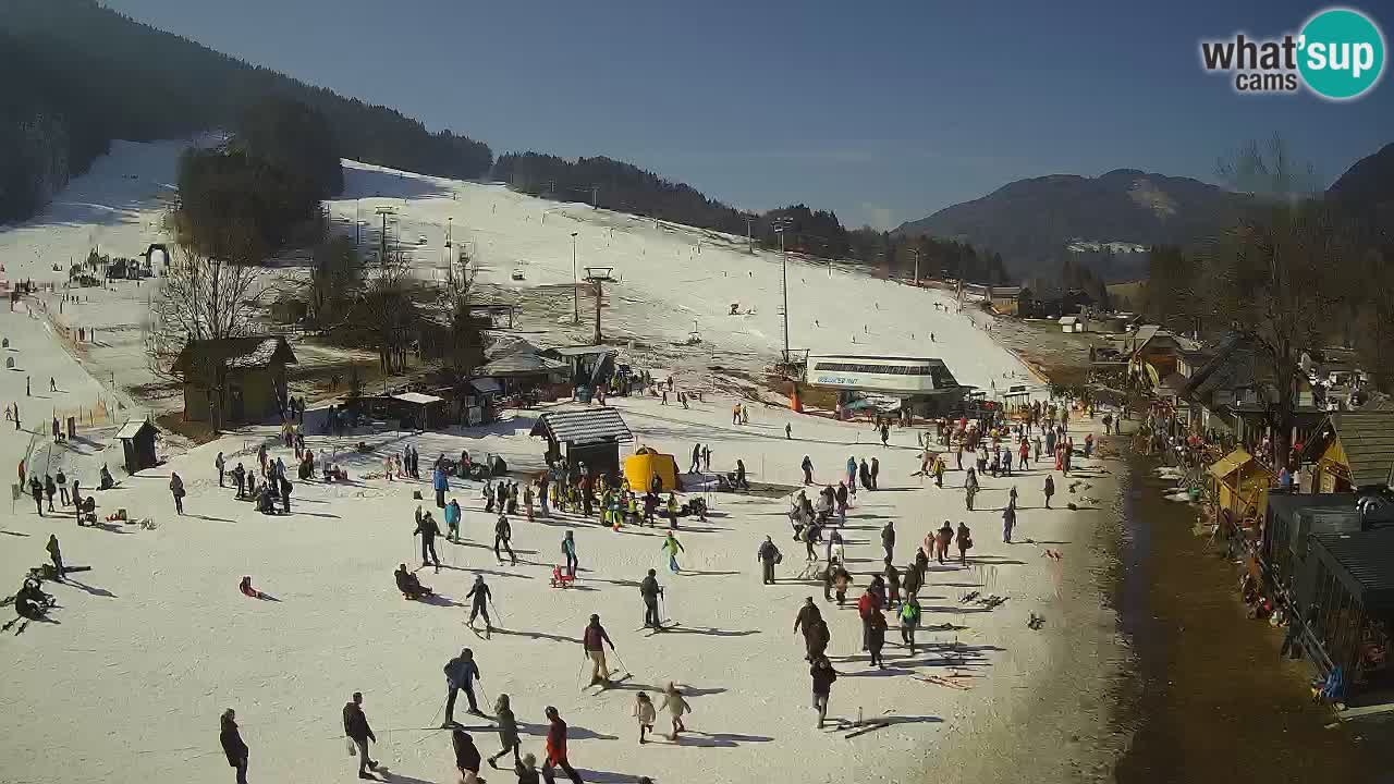
[[[839,407],[868,395],[899,398],[916,416],[941,416],[958,407],[970,386],[960,385],[944,360],[933,357],[809,356],[804,379],[835,389]]]

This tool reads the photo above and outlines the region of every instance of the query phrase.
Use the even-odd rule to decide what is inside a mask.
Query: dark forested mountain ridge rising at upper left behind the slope
[[[393,109],[220,54],[95,0],[0,0],[0,220],[31,215],[112,140],[233,128],[268,96],[323,114],[355,160],[461,179],[492,163],[482,142],[431,133]]]

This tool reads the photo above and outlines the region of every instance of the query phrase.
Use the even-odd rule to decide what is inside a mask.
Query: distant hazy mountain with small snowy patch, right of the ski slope
[[[1009,183],[896,229],[953,237],[999,251],[1016,273],[1055,268],[1072,240],[1184,244],[1228,225],[1242,197],[1136,169],[1098,177],[1051,174]]]

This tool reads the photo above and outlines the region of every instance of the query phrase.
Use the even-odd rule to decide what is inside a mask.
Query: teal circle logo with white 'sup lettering
[[[1331,100],[1365,95],[1384,71],[1384,33],[1349,8],[1327,8],[1308,20],[1298,49],[1302,81]]]

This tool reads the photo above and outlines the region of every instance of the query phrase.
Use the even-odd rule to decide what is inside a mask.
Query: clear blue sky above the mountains
[[[1202,71],[1202,38],[1294,32],[1323,3],[106,4],[495,153],[608,155],[736,206],[803,201],[848,225],[1051,173],[1213,180],[1217,156],[1273,133],[1328,183],[1394,141],[1388,77],[1327,103],[1241,96]],[[1394,13],[1365,10],[1394,32]]]

